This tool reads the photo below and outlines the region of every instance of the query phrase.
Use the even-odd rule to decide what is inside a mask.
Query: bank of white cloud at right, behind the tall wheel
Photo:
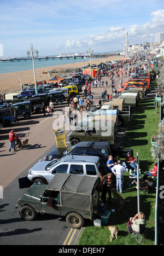
[[[142,43],[141,40],[155,41],[155,33],[164,31],[164,10],[158,10],[151,13],[152,19],[143,25],[131,25],[127,28],[130,40],[134,43]],[[110,45],[115,42],[116,45],[124,47],[126,30],[124,27],[110,27],[108,31],[102,34],[91,35],[84,39],[67,40],[66,48],[80,48],[86,46],[98,46],[102,43]],[[130,42],[131,43],[131,42]]]

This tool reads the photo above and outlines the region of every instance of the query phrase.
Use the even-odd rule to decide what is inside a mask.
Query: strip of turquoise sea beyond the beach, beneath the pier
[[[97,60],[97,59],[92,59]],[[59,65],[65,65],[65,64],[73,64],[78,62],[86,62],[86,65],[89,64],[89,58],[81,59],[81,57],[77,57],[77,59],[74,61],[72,58],[70,59],[45,59],[45,60],[34,60],[35,68],[46,68],[46,67],[52,67],[52,66],[59,66]],[[85,66],[86,66],[85,65]],[[0,61],[0,74],[3,73],[11,73],[11,72],[19,72],[19,71],[25,71],[25,70],[31,70],[33,69],[32,60],[19,60],[19,61]]]

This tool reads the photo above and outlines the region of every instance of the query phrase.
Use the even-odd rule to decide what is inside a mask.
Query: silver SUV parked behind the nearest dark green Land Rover
[[[98,156],[67,155],[60,160],[40,161],[28,171],[32,183],[49,184],[56,173],[72,173],[98,177],[100,161]]]

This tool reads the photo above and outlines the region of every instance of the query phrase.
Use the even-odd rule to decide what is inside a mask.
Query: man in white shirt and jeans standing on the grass
[[[120,193],[124,193],[123,183],[124,183],[124,172],[126,172],[126,169],[122,166],[121,160],[118,160],[118,164],[112,168],[112,172],[116,176],[117,191],[120,191]]]

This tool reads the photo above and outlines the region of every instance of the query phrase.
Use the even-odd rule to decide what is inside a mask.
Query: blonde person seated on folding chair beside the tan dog
[[[137,213],[133,218],[131,217],[126,224],[129,233],[142,232],[142,230],[139,230],[139,225],[145,225],[145,214],[143,212]]]

